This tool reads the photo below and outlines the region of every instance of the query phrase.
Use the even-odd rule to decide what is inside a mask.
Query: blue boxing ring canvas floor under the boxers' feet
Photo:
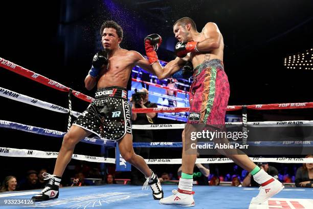
[[[176,185],[163,185],[165,195],[177,189]],[[252,197],[258,194],[258,188],[235,186],[194,186],[195,206],[193,208],[211,209],[267,209],[267,208],[313,208],[312,188],[284,189],[264,204],[250,205]],[[30,199],[39,190],[8,192],[0,194],[1,208],[178,208],[181,206],[161,205],[153,200],[151,191],[142,191],[141,186],[100,185],[60,188],[58,199],[36,202],[31,206],[4,206],[4,199]]]

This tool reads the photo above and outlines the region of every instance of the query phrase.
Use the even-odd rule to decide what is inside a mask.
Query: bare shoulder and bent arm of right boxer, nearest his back
[[[203,29],[205,38],[198,42],[197,50],[200,52],[208,52],[219,48],[221,34],[215,23],[207,23]]]

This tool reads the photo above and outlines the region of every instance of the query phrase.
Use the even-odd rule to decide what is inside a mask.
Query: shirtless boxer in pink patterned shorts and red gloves
[[[190,88],[190,114],[187,123],[225,124],[225,114],[230,94],[229,82],[223,69],[223,37],[214,23],[207,23],[197,32],[196,25],[189,17],[178,19],[173,25],[177,57],[163,68],[155,52],[155,45],[162,42],[161,36],[151,34],[145,38],[146,54],[155,74],[164,79],[180,70],[186,61],[193,66],[193,82]],[[179,71],[178,71],[179,72]],[[178,73],[177,72],[177,73]],[[179,72],[184,76],[188,72]],[[194,113],[194,114],[191,114]],[[186,126],[187,127],[187,126]],[[182,178],[178,190],[161,204],[194,206],[192,173],[196,154],[186,154],[185,130],[183,131]],[[260,204],[283,189],[282,183],[260,169],[247,155],[226,154],[241,168],[249,171],[254,180],[261,184],[260,192],[252,203]]]

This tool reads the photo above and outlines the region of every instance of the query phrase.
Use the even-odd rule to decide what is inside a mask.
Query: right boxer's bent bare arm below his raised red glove
[[[162,67],[160,62],[154,62],[152,64],[152,68],[154,74],[158,76],[158,79],[162,80],[170,77],[172,74],[180,70],[185,64],[186,61],[184,59],[176,57],[174,60],[169,61],[165,67]]]

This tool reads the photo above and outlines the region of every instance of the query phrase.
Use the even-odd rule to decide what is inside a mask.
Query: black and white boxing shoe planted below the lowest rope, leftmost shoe
[[[50,179],[50,181],[46,184],[46,187],[44,187],[44,189],[38,195],[32,197],[32,200],[46,201],[58,198],[61,177],[48,173],[43,173],[42,176],[44,177],[44,180]]]

